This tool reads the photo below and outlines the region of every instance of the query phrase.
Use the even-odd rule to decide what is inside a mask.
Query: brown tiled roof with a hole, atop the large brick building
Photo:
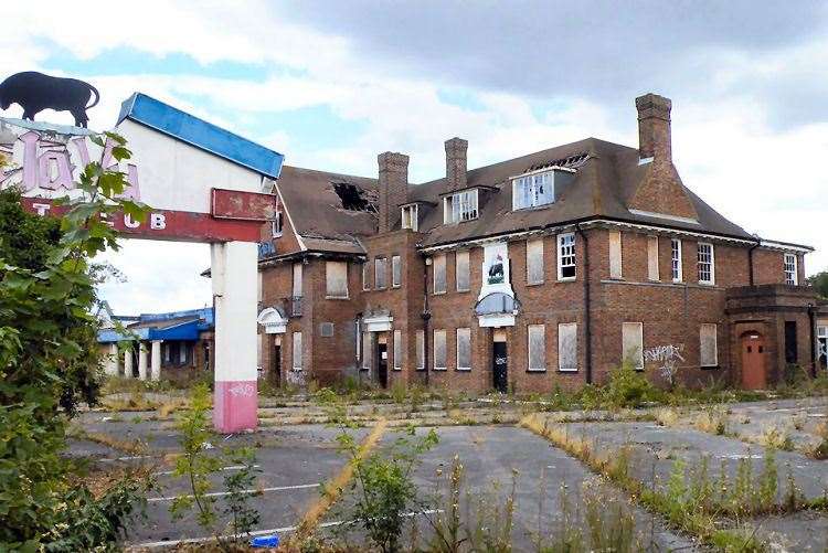
[[[512,210],[511,179],[544,168],[575,170],[573,180],[555,191],[554,203],[534,209]],[[640,163],[635,148],[596,138],[587,138],[507,161],[471,169],[467,188],[487,187],[491,193],[481,198],[479,216],[457,224],[443,223],[440,195],[448,192],[446,179],[423,184],[408,184],[407,202],[428,202],[420,213],[422,246],[437,246],[485,238],[521,231],[556,226],[576,221],[607,219],[654,226],[686,230],[741,240],[755,240],[742,227],[704,203],[681,183],[696,214],[690,217],[664,217],[655,213],[628,209],[638,187],[650,177],[654,163]],[[378,181],[309,169],[285,167],[278,188],[296,231],[302,237],[317,238],[320,248],[337,244],[339,252],[360,251],[359,237],[376,233],[376,217],[367,211],[342,205],[342,183],[353,185],[367,198],[376,198]],[[348,190],[352,194],[354,190]],[[656,210],[654,210],[656,211]],[[329,242],[335,241],[335,242]],[[347,242],[347,245],[342,245]],[[327,251],[327,249],[325,249]]]

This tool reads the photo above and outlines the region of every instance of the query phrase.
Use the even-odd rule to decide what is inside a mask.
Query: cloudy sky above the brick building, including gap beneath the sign
[[[684,183],[828,268],[821,2],[9,0],[3,23],[0,75],[92,82],[92,128],[140,91],[294,166],[373,176],[378,152],[406,152],[415,182],[440,176],[452,136],[470,167],[588,136],[635,147],[634,98],[656,92]],[[117,312],[210,302],[206,246],[132,241],[112,260]]]

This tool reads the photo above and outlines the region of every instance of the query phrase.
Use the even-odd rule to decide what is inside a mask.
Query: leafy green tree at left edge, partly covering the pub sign
[[[107,135],[118,161],[125,140]],[[100,138],[93,138],[103,146]],[[92,259],[117,249],[106,219],[145,208],[119,199],[125,176],[92,162],[57,202],[60,219],[25,212],[15,190],[0,191],[0,550],[107,549],[131,510],[137,485],[95,498],[61,456],[66,424],[94,404],[102,379]]]

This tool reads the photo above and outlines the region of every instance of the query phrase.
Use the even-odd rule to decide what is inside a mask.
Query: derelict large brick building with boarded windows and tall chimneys
[[[638,149],[587,138],[468,170],[452,138],[445,177],[423,184],[394,152],[376,179],[285,167],[261,245],[262,370],[476,393],[599,383],[623,361],[751,389],[816,370],[828,315],[803,286],[811,248],[693,194],[670,100],[636,107]]]

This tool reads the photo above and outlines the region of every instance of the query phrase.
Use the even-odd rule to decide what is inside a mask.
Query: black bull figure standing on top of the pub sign
[[[92,95],[95,100],[89,104]],[[89,117],[86,110],[100,99],[97,88],[76,78],[53,77],[36,71],[15,73],[0,83],[0,108],[9,109],[12,104],[23,108],[23,119],[34,120],[44,109],[68,111],[75,118],[75,126],[86,128]]]

